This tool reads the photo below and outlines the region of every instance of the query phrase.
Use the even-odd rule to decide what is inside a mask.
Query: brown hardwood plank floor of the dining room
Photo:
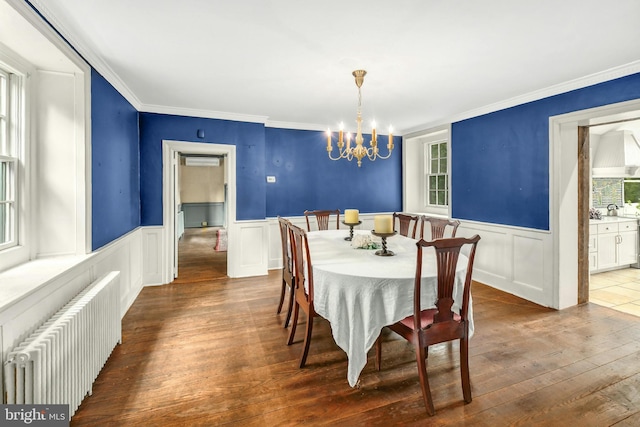
[[[553,311],[474,285],[473,402],[462,401],[457,344],[435,346],[429,417],[403,340],[385,333],[382,371],[370,354],[350,388],[323,319],[298,369],[301,342],[285,345],[275,314],[279,272],[181,279],[142,290],[72,426],[640,425],[640,319],[625,313]]]

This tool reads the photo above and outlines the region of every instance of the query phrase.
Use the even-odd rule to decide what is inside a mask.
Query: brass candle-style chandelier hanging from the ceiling
[[[331,139],[333,135],[331,130],[327,130],[327,153],[329,154],[329,158],[331,160],[340,160],[347,159],[348,161],[353,160],[355,157],[358,160],[358,167],[362,166],[362,159],[366,156],[369,160],[374,161],[376,158],[388,159],[391,156],[391,152],[393,151],[393,135],[392,128],[389,126],[389,143],[387,144],[387,149],[389,153],[386,156],[380,155],[378,151],[378,136],[376,134],[376,123],[373,122],[371,124],[371,141],[369,142],[369,147],[365,147],[363,145],[364,139],[362,138],[362,92],[360,88],[362,86],[362,82],[364,81],[364,76],[367,74],[365,70],[355,70],[353,76],[356,78],[356,86],[358,86],[358,115],[356,117],[356,122],[358,123],[358,133],[355,138],[355,146],[351,146],[351,133],[347,133],[347,142],[345,144],[343,138],[343,128],[344,125],[340,123],[340,130],[338,131],[338,155],[337,157],[333,157],[331,153],[333,152],[333,146],[331,145]]]

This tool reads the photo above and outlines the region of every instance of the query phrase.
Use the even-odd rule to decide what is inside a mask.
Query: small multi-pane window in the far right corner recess
[[[449,174],[447,170],[447,141],[425,144],[426,205],[449,205]]]

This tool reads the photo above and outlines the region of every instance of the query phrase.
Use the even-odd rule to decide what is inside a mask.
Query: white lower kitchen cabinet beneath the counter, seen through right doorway
[[[597,224],[596,227],[597,234],[593,243],[592,227],[589,227],[589,265],[593,270],[612,269],[637,262],[637,221],[609,220]]]

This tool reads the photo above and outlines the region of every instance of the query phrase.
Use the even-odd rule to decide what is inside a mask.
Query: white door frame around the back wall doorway
[[[227,223],[227,275],[235,277],[235,247],[231,236],[236,224],[236,147],[226,144],[209,144],[189,141],[162,141],[162,280],[171,283],[177,273],[177,239],[175,214],[175,169],[173,159],[181,154],[204,154],[225,156],[225,182],[227,183],[227,203],[225,218]]]

